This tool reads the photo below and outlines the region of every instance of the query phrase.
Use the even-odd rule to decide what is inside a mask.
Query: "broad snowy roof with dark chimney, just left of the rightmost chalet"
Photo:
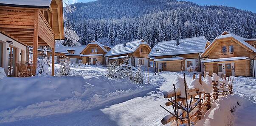
[[[191,53],[202,53],[208,40],[205,36],[180,39],[180,44],[176,46],[177,40],[161,41],[156,44],[149,57],[162,55],[180,55]]]

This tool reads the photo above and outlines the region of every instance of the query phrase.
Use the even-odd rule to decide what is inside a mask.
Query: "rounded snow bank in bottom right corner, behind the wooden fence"
[[[195,126],[233,126],[235,125],[234,121],[236,116],[238,116],[236,115],[238,114],[237,111],[239,112],[244,107],[248,106],[254,107],[255,110],[255,104],[236,94],[221,97],[214,101],[211,105],[211,109],[206,112],[204,118],[198,121]],[[251,113],[250,116],[253,115],[254,113]],[[238,118],[238,120],[243,122],[243,118]]]

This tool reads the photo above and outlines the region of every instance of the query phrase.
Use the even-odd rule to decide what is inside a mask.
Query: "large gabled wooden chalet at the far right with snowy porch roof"
[[[205,71],[219,76],[254,76],[256,71],[256,39],[243,38],[224,31],[217,36],[201,57]]]

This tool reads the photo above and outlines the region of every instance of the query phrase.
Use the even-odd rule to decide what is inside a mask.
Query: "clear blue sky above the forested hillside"
[[[69,0],[70,3],[90,2],[96,0]],[[184,0],[198,5],[225,5],[256,13],[256,0]]]

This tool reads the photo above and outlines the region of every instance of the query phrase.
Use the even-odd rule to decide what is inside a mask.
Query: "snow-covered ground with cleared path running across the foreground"
[[[11,89],[7,84],[0,86],[0,100],[6,101],[6,104],[11,104],[11,106],[7,106],[4,103],[0,103],[0,125],[161,125],[161,119],[168,114],[160,107],[160,105],[164,105],[167,101],[163,98],[163,93],[172,90],[172,82],[180,73],[160,72],[159,75],[149,73],[149,85],[146,85],[146,78],[144,79],[143,85],[136,85],[127,80],[108,79],[105,76],[105,71],[106,69],[101,67],[73,66],[71,67],[72,76],[64,77],[64,80],[59,80],[62,77],[47,77],[39,79],[39,81],[33,81],[33,77],[31,77],[31,82],[24,84],[28,88],[22,86],[21,88],[24,90],[21,90],[20,93],[8,93],[14,92],[15,89]],[[143,75],[146,77],[146,72],[143,72]],[[188,83],[191,82],[192,76],[191,73],[186,76]],[[69,80],[69,77],[73,79]],[[216,121],[218,118],[212,117],[219,117],[221,112],[224,112],[221,109],[226,109],[225,112],[228,113],[230,112],[230,107],[236,105],[235,101],[239,101],[240,106],[236,105],[236,110],[231,115],[228,115],[231,117],[232,123],[235,126],[248,126],[256,123],[255,119],[253,119],[256,118],[255,114],[253,115],[256,112],[256,78],[233,78],[235,79],[233,88],[237,94],[214,101],[212,109],[208,111],[208,114],[205,115],[205,120],[201,120],[201,122],[207,122],[210,119],[213,119],[211,121]],[[11,77],[5,79],[1,79],[0,83],[2,84],[3,81],[15,81]],[[61,81],[61,84],[54,85],[52,83],[53,81]],[[37,87],[36,84],[32,84],[33,82],[38,85],[45,83],[51,86]],[[11,86],[20,88],[20,85],[11,84]],[[25,90],[30,89],[29,87],[38,89]],[[50,87],[52,89],[48,89]],[[6,89],[9,91],[4,91]],[[45,94],[40,94],[39,89],[45,92]],[[30,94],[28,95],[29,97],[24,93]],[[12,95],[16,96],[13,97]],[[36,98],[38,101],[35,100]],[[248,99],[253,101],[254,104]],[[170,107],[169,110],[172,111],[172,108]],[[224,118],[226,119],[226,116]]]

